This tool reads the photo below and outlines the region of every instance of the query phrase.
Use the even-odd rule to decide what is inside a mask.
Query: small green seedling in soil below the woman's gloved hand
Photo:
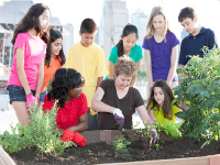
[[[131,144],[131,142],[124,135],[118,135],[112,141],[112,145],[113,145],[114,150],[120,153],[129,152],[130,148],[128,146],[130,144]]]

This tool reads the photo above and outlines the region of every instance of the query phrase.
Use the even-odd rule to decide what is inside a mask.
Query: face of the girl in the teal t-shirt
[[[121,38],[123,41],[123,50],[125,52],[131,52],[131,48],[136,44],[136,34],[131,33]]]

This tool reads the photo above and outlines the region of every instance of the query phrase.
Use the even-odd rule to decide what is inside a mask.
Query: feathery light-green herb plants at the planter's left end
[[[61,134],[54,132],[56,124],[56,102],[51,111],[44,112],[42,106],[33,106],[30,109],[30,125],[22,127],[18,123],[14,128],[11,125],[12,134],[4,131],[0,138],[0,144],[9,153],[12,154],[22,148],[36,147],[38,153],[55,153],[61,155],[65,147],[73,142],[61,141]]]

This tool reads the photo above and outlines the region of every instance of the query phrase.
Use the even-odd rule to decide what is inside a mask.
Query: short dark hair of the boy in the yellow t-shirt
[[[80,33],[94,33],[97,31],[97,24],[92,19],[85,19],[80,25]]]

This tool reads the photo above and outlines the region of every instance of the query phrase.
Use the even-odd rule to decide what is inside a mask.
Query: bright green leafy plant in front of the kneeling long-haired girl
[[[141,135],[142,138],[153,138],[153,132],[157,135],[157,141],[155,146],[158,148],[164,144],[163,141],[160,140],[160,135],[162,131],[168,136],[170,134],[173,139],[178,139],[182,136],[179,131],[180,123],[174,123],[170,121],[165,121],[164,123],[154,122],[153,125],[150,123],[145,123],[145,129],[139,129],[136,135]]]

